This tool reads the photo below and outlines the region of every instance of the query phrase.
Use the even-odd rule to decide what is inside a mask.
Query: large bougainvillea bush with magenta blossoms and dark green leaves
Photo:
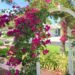
[[[39,61],[38,56],[40,52],[44,55],[49,52],[46,49],[46,45],[51,43],[47,39],[50,37],[50,33],[48,32],[50,26],[43,25],[48,14],[46,9],[27,7],[25,14],[14,20],[15,28],[7,32],[8,36],[14,36],[14,46],[11,46],[8,51],[10,58],[7,64],[9,66],[15,67],[19,64],[24,66],[29,63],[34,63],[34,67],[35,63]],[[24,74],[35,75],[29,69]]]

